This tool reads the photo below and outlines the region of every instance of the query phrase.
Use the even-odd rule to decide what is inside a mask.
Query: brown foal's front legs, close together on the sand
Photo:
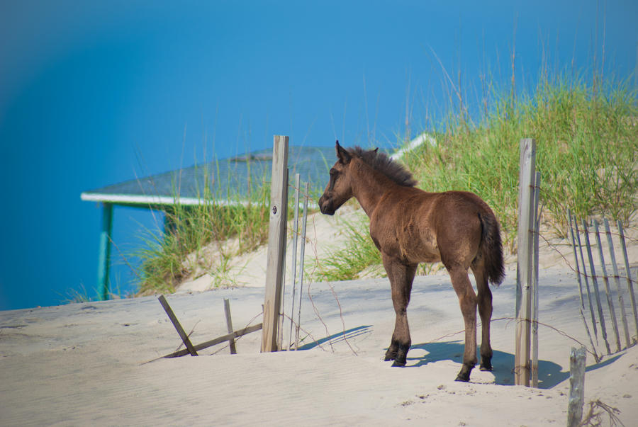
[[[392,341],[386,351],[385,360],[394,360],[393,366],[405,366],[412,343],[408,327],[408,304],[417,264],[404,263],[386,254],[383,254],[383,260],[390,279],[392,304],[396,314]]]

